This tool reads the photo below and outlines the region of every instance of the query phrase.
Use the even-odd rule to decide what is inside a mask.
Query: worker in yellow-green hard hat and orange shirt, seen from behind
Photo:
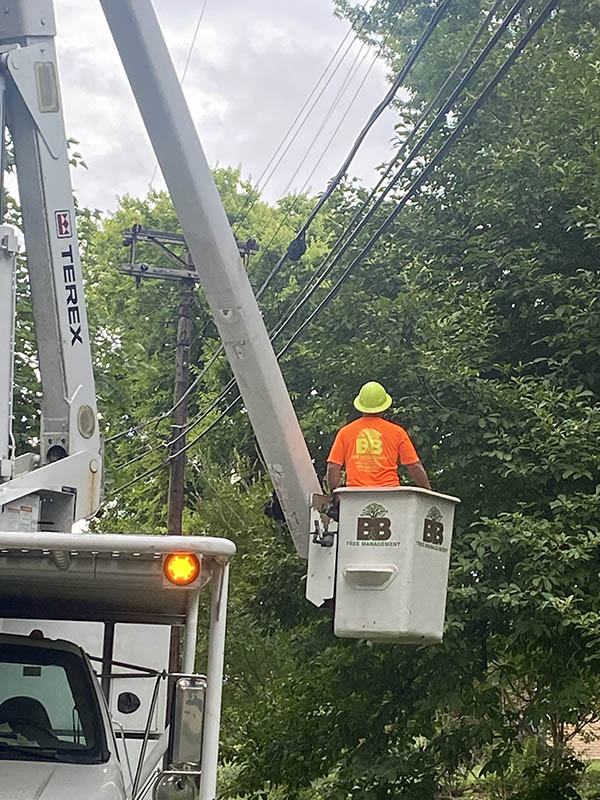
[[[392,398],[376,381],[369,381],[354,400],[362,417],[338,431],[327,459],[327,483],[333,493],[340,485],[342,467],[346,486],[400,486],[398,463],[417,486],[431,489],[429,478],[408,433],[383,418]]]

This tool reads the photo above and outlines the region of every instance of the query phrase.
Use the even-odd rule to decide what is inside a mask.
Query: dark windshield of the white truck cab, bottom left
[[[98,700],[77,654],[0,643],[0,759],[106,760]]]

